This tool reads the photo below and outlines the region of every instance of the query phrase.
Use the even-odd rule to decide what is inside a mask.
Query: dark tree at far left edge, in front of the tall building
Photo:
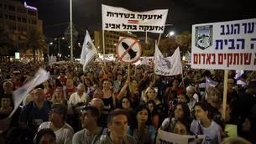
[[[0,48],[4,47],[8,48],[9,51],[13,51],[15,49],[10,33],[7,33],[4,28],[0,28]]]

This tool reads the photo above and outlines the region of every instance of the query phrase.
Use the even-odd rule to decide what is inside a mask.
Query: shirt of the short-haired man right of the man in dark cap
[[[97,141],[102,140],[102,137],[104,135],[107,135],[107,131],[108,131],[107,128],[100,127],[100,131],[97,135],[87,136],[86,131],[83,129],[75,133],[75,135],[73,136],[72,142],[74,144],[87,144],[87,143],[94,144]]]

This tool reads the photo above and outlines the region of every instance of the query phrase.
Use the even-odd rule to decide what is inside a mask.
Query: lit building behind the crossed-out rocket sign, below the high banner
[[[105,53],[116,54],[116,47],[120,37],[137,39],[137,35],[130,32],[105,31]],[[98,52],[103,54],[102,31],[94,31],[94,44]]]

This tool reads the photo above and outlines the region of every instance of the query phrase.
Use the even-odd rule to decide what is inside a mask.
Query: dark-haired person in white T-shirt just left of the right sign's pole
[[[206,144],[222,142],[222,128],[212,121],[211,106],[205,102],[197,102],[195,105],[196,120],[191,123],[191,132],[196,135],[206,135]]]

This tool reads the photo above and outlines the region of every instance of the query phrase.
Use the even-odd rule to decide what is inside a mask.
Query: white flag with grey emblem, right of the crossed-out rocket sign
[[[165,58],[163,54],[160,52],[156,43],[154,58],[155,58],[155,64],[154,64],[155,74],[165,75],[165,76],[182,74],[179,47],[175,50],[175,53],[172,56]]]

